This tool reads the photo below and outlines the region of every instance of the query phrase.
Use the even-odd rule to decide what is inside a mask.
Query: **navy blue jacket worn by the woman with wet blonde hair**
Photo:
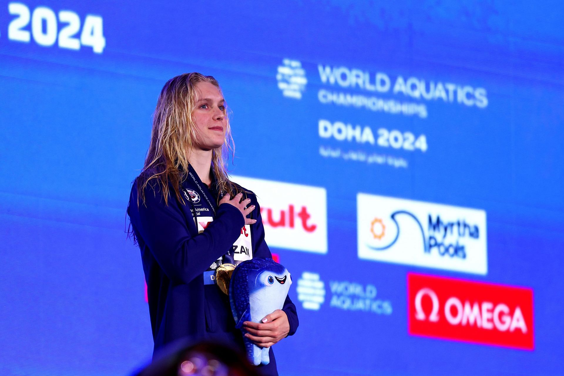
[[[199,179],[198,179],[199,180]],[[155,179],[151,182],[156,182]],[[178,339],[218,340],[244,350],[242,334],[235,322],[227,295],[216,285],[204,285],[203,272],[219,257],[227,253],[244,226],[239,209],[230,204],[216,207],[213,222],[198,233],[191,213],[191,204],[180,202],[170,188],[168,205],[158,184],[147,185],[145,202],[139,198],[137,184],[131,188],[127,213],[139,244],[143,271],[147,282],[149,315],[155,348],[153,354],[165,344]],[[201,184],[215,204],[216,196]],[[199,188],[187,179],[183,188]],[[247,194],[255,209],[250,218],[253,256],[272,258],[265,242],[261,209],[253,193]],[[213,198],[212,198],[213,197]],[[289,335],[296,333],[298,317],[296,306],[286,298],[283,311],[290,324]],[[266,375],[277,375],[272,348],[270,364],[262,366]]]

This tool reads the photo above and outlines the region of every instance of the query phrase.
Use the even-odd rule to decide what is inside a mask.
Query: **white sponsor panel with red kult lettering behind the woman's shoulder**
[[[268,245],[327,253],[327,191],[310,185],[232,176],[261,206]]]

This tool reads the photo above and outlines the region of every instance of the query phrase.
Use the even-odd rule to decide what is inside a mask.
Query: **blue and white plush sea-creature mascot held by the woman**
[[[272,259],[254,258],[241,262],[229,284],[231,311],[235,328],[243,322],[261,322],[269,313],[282,309],[292,278],[288,270]],[[243,337],[245,350],[254,365],[268,364],[268,348],[261,348]]]

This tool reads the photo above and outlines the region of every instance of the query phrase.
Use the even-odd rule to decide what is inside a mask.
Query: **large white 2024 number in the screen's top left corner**
[[[49,47],[58,41],[60,48],[69,50],[80,50],[81,46],[89,46],[96,54],[102,54],[104,51],[105,38],[100,16],[86,16],[79,39],[76,34],[80,30],[80,17],[73,11],[59,11],[58,20],[63,25],[60,30],[57,16],[50,8],[37,7],[32,14],[26,5],[10,3],[8,11],[16,16],[8,25],[8,39],[12,41],[29,43],[30,36],[33,36],[33,40],[40,46]],[[32,21],[31,33],[24,30],[29,20]]]

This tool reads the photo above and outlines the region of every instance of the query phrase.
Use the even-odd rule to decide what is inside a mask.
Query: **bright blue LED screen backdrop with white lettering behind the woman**
[[[270,245],[300,320],[275,345],[280,374],[564,374],[563,16],[560,2],[1,2],[0,373],[150,360],[125,210],[162,85],[197,71],[230,107],[233,175],[325,190],[325,251]],[[359,193],[483,211],[486,269],[360,257]],[[532,289],[533,350],[410,335],[409,272]],[[317,309],[296,292],[310,277]]]

